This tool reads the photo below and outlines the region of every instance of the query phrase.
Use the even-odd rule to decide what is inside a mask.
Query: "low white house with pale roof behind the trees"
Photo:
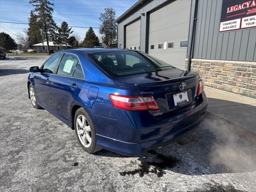
[[[36,50],[36,52],[38,53],[47,53],[47,42],[42,42],[42,43],[38,43],[38,44],[34,44],[34,50]],[[59,50],[64,50],[66,49],[66,45],[56,45],[54,44],[52,41],[49,42],[49,46],[50,46],[50,51],[56,52]],[[72,46],[67,45],[67,48],[70,48]]]

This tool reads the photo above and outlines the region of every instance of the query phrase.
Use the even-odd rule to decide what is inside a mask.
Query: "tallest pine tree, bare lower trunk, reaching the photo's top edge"
[[[52,6],[54,6],[54,3],[49,0],[30,0],[29,3],[34,6],[34,10],[32,11],[37,13],[38,26],[42,29],[42,36],[46,40],[47,51],[50,55],[49,41],[55,40],[55,32],[57,29],[56,23],[52,18],[52,12],[54,12]]]

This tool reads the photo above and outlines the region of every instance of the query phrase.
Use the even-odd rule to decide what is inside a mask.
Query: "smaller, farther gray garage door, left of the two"
[[[126,26],[126,48],[140,50],[140,20]]]

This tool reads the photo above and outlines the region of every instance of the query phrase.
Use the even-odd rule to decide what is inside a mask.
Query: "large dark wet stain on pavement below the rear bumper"
[[[156,151],[148,151],[149,154],[154,155],[157,161],[142,161],[139,165],[139,168],[132,170],[132,171],[124,171],[120,172],[120,175],[127,176],[127,175],[135,175],[139,174],[140,177],[143,177],[146,174],[154,173],[158,177],[162,177],[166,174],[166,168],[174,168],[180,160],[171,156],[164,156]],[[154,168],[150,169],[150,166]]]

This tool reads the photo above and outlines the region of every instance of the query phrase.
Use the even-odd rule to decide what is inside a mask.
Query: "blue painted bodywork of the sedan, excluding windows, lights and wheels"
[[[96,130],[98,146],[122,154],[136,155],[152,147],[175,141],[194,130],[202,120],[208,100],[204,92],[197,98],[198,74],[177,68],[132,76],[112,77],[98,67],[88,54],[119,51],[119,49],[64,50],[78,56],[85,80],[53,74],[31,73],[38,104],[48,112],[73,126],[72,109],[80,106],[89,114]],[[124,50],[122,50],[124,51]],[[131,51],[131,50],[126,50]],[[49,79],[50,83],[46,83]],[[193,101],[184,107],[172,106],[172,95],[180,92],[180,82],[191,89]],[[127,111],[114,108],[112,93],[140,96],[152,95],[163,114],[156,111]]]

